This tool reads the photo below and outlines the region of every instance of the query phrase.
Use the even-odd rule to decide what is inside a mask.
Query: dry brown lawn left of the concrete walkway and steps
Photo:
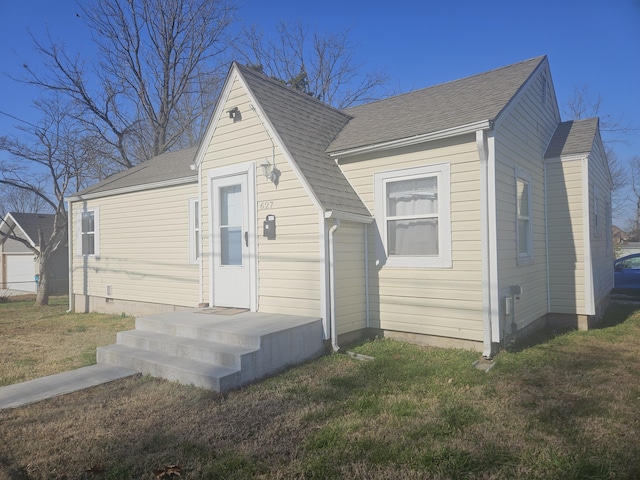
[[[0,304],[0,386],[96,362],[96,348],[115,343],[116,332],[133,328],[120,315],[66,313],[67,297],[39,307],[34,296]]]

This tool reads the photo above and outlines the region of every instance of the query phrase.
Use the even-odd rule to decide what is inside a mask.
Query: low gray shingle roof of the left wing
[[[151,158],[140,165],[129,168],[123,172],[111,175],[107,179],[96,183],[76,193],[76,196],[106,193],[122,188],[137,187],[141,185],[192,178],[198,181],[197,172],[191,170],[194,163],[197,148],[187,148],[175,152],[163,153]]]

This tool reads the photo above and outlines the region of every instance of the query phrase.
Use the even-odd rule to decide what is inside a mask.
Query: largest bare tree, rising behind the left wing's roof
[[[45,68],[25,65],[26,81],[72,99],[77,120],[101,140],[115,169],[199,139],[235,7],[227,0],[96,0],[80,9],[99,61],[89,65],[50,37],[47,44],[34,38]]]

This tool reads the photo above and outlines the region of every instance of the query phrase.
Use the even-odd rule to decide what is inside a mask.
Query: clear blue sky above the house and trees
[[[640,0],[244,0],[238,16],[265,32],[301,19],[321,31],[350,28],[356,59],[383,69],[391,88],[427,87],[538,55],[548,55],[562,105],[587,85],[603,113],[640,127]],[[26,120],[37,96],[7,78],[33,62],[28,30],[90,54],[90,38],[72,0],[0,0],[0,111]],[[0,135],[16,121],[0,115]],[[640,134],[616,143],[622,162],[640,156]],[[1,155],[0,154],[0,158]]]

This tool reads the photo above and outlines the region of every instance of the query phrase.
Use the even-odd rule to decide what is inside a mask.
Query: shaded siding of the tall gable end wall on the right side
[[[546,72],[546,78],[550,78]],[[513,314],[507,319],[522,328],[547,313],[547,258],[543,155],[559,121],[553,98],[542,102],[538,74],[527,84],[495,132],[498,291],[510,295],[520,285]],[[552,89],[547,94],[553,96]],[[516,172],[526,175],[531,191],[532,256],[518,260]],[[508,332],[507,332],[508,333]]]

